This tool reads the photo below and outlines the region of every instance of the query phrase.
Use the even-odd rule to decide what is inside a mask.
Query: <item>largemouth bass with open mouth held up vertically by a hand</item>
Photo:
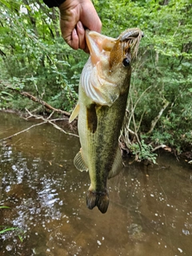
[[[90,175],[86,206],[105,214],[110,198],[107,180],[122,170],[118,138],[126,112],[131,65],[137,57],[142,30],[131,28],[118,38],[86,30],[90,58],[82,70],[78,104],[69,122],[78,116],[81,149],[74,166]]]

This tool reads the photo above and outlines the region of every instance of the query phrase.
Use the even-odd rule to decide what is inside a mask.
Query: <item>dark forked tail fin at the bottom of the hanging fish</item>
[[[100,210],[102,214],[105,214],[109,206],[109,202],[110,198],[107,190],[105,192],[87,191],[86,206],[90,210],[92,210],[94,206],[98,206],[98,210]]]

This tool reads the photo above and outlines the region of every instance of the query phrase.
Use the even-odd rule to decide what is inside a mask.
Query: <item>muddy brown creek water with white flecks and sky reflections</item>
[[[0,112],[0,138],[34,125]],[[75,169],[78,138],[37,126],[0,147],[0,255],[192,255],[192,168],[161,154],[110,179],[106,214],[86,208],[87,173]],[[146,175],[149,174],[149,177]],[[22,241],[20,240],[22,237]]]

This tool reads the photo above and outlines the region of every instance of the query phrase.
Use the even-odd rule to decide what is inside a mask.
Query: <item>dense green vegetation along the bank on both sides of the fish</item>
[[[138,144],[146,142],[153,142],[154,147],[166,144],[178,153],[191,150],[192,3],[93,2],[102,19],[102,34],[117,37],[128,27],[139,27],[145,34],[133,68],[122,139],[129,147],[135,142],[135,152]],[[0,3],[0,107],[37,108],[7,88],[11,86],[56,108],[72,110],[88,56],[63,42],[58,10],[49,9],[42,0]]]

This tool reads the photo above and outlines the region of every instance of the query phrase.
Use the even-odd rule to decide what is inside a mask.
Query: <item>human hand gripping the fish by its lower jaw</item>
[[[59,6],[62,37],[74,50],[82,49],[89,53],[86,46],[86,29],[102,30],[102,22],[90,0],[66,0]]]

